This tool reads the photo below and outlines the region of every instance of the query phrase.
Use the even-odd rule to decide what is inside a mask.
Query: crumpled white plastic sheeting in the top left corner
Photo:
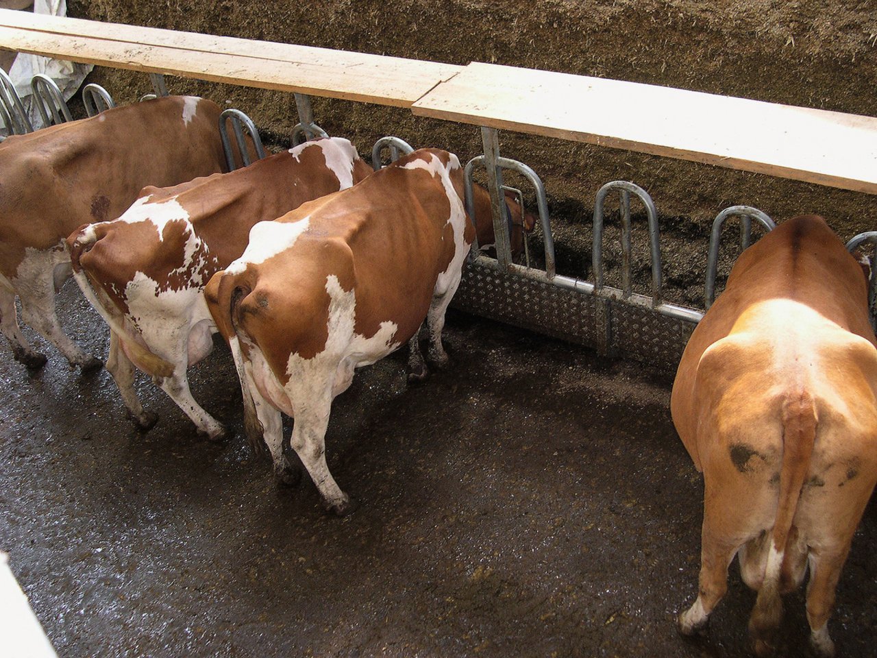
[[[33,13],[67,16],[67,0],[35,0]],[[31,118],[34,130],[43,127],[43,119],[39,116],[36,104],[33,103],[31,89],[33,76],[38,73],[48,75],[61,89],[64,99],[68,100],[73,97],[92,68],[90,64],[74,64],[71,61],[53,60],[39,55],[18,54],[9,75]]]

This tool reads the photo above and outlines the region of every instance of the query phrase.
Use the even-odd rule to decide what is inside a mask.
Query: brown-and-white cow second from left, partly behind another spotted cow
[[[107,369],[132,418],[146,413],[132,385],[137,366],[174,399],[199,432],[223,426],[197,404],[186,368],[210,354],[216,325],[203,300],[210,276],[243,254],[250,228],[372,173],[347,139],[306,142],[229,174],[147,188],[118,219],[68,238],[74,275],[111,326]]]

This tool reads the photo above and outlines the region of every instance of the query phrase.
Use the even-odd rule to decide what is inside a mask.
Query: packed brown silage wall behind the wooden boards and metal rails
[[[877,89],[873,2],[70,0],[68,11],[83,18],[454,64],[497,62],[858,114],[873,115]],[[119,101],[151,90],[146,75],[102,69],[91,77]],[[276,144],[288,144],[296,123],[288,93],[182,79],[171,80],[170,89],[246,111]],[[415,147],[447,148],[461,160],[481,152],[473,126],[369,104],[317,97],[312,104],[324,129],[353,139],[363,154],[388,133]],[[843,240],[877,228],[873,197],[865,194],[512,132],[502,132],[501,144],[503,154],[527,162],[545,181],[562,274],[590,275],[596,190],[617,179],[645,188],[661,216],[668,298],[682,304],[702,306],[709,224],[729,205],[756,206],[778,220],[816,212]],[[607,240],[611,269],[620,256],[614,236]],[[638,255],[645,254],[645,246],[638,247]],[[735,255],[731,247],[723,253],[722,271]],[[634,276],[645,293],[647,259],[635,261],[643,263]]]

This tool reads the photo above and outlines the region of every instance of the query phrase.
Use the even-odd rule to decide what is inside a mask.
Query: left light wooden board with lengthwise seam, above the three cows
[[[0,48],[398,107],[409,107],[462,69],[401,57],[5,10],[0,10]]]

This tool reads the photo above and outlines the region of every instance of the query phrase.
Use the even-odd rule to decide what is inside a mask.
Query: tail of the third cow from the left
[[[234,367],[238,371],[238,379],[240,380],[240,392],[244,399],[244,431],[246,438],[253,447],[256,454],[266,454],[265,446],[265,427],[259,419],[256,412],[256,403],[253,399],[253,391],[250,388],[250,377],[246,372],[246,360],[244,353],[240,347],[241,340],[249,341],[246,332],[240,325],[240,302],[250,294],[250,287],[242,284],[238,276],[226,275],[220,273],[219,286],[217,290],[217,307],[227,309],[228,314],[222,318],[221,322],[217,319],[217,325],[220,325],[222,331],[228,338],[229,347],[232,348],[232,357],[234,358]]]

